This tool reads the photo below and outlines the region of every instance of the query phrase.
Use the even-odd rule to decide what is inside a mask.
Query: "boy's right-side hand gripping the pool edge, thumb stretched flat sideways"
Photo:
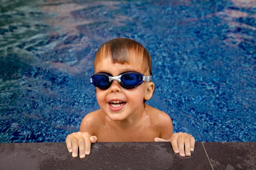
[[[173,151],[176,154],[180,154],[181,157],[185,157],[185,152],[186,156],[191,156],[191,151],[194,151],[195,148],[195,138],[183,132],[173,133],[173,135],[171,135],[171,138],[168,140],[156,137],[155,141],[170,141],[173,147]]]

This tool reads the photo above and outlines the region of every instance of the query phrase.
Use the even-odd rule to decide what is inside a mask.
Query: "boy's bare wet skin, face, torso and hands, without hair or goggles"
[[[94,67],[94,72],[106,72],[118,76],[126,71],[143,73],[133,64],[114,64],[103,59]],[[147,75],[147,73],[143,73]],[[101,109],[83,118],[79,132],[67,136],[67,149],[73,157],[84,158],[90,154],[91,143],[96,141],[170,141],[175,153],[181,157],[191,155],[195,139],[187,133],[173,134],[171,118],[164,112],[144,103],[152,97],[153,82],[143,82],[132,89],[121,87],[113,80],[110,88],[96,88],[97,102]]]

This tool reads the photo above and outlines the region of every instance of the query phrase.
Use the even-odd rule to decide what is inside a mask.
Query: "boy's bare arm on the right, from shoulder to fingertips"
[[[161,118],[160,138],[156,137],[155,141],[170,141],[173,151],[176,154],[180,154],[181,157],[185,157],[185,153],[186,156],[191,156],[191,151],[195,148],[195,138],[184,132],[173,133],[173,123],[171,118],[167,114]],[[167,126],[169,126],[169,128]]]

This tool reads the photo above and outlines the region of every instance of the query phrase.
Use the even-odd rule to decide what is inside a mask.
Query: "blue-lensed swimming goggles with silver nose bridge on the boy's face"
[[[136,71],[127,71],[118,76],[113,77],[110,73],[96,73],[91,78],[91,83],[101,90],[108,89],[113,80],[117,80],[123,88],[131,89],[139,86],[144,81],[151,81],[151,75],[144,76]]]

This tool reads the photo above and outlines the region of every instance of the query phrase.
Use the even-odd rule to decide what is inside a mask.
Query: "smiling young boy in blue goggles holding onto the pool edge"
[[[100,109],[83,118],[79,132],[67,136],[72,157],[78,156],[79,148],[83,159],[96,141],[170,141],[176,154],[191,155],[195,139],[187,133],[173,134],[171,118],[145,103],[155,85],[144,46],[128,38],[106,42],[95,56],[94,72],[91,82]]]

